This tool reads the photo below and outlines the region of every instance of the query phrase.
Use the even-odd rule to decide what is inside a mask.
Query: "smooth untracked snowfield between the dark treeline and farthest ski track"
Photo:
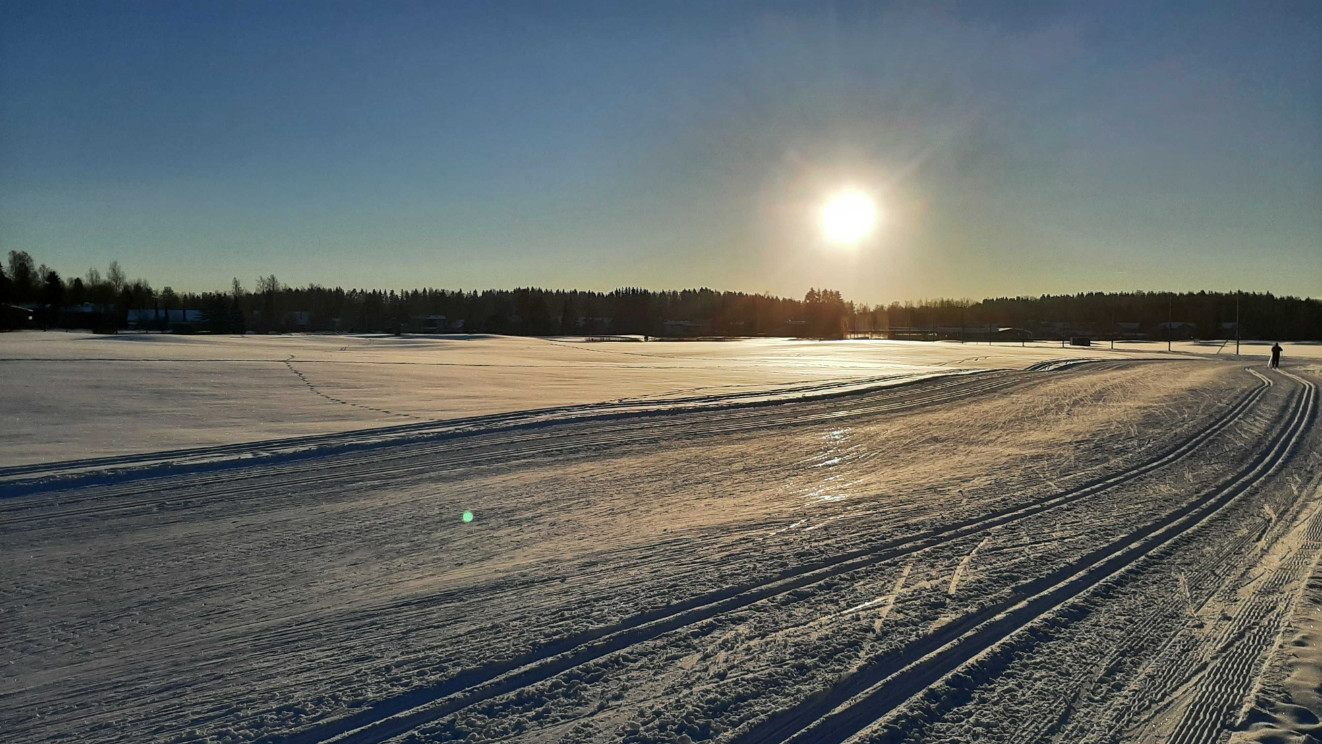
[[[952,369],[1166,355],[1165,344],[1121,349],[1050,342],[1021,349],[887,341],[8,333],[0,336],[0,466],[612,402],[707,404],[739,394],[820,394]],[[1182,345],[1200,354],[1218,349]],[[1319,355],[1318,349],[1298,352]],[[1266,352],[1245,346],[1244,353],[1263,358]]]

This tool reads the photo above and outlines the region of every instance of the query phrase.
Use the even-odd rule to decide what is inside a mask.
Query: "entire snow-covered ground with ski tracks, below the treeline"
[[[1315,349],[4,337],[0,731],[1318,736]]]

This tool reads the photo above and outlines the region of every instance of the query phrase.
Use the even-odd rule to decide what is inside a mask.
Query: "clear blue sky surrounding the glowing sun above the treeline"
[[[1319,70],[1315,1],[8,0],[0,251],[177,289],[1322,296]],[[858,251],[816,221],[843,186],[886,211]]]

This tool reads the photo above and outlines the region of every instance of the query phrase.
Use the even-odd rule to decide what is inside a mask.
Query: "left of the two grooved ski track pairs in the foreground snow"
[[[1256,371],[1249,371],[1259,378],[1260,385],[1247,392],[1225,414],[1186,439],[1181,445],[1124,473],[1101,477],[1064,493],[956,522],[920,535],[891,540],[871,548],[851,551],[822,562],[800,566],[755,584],[731,587],[720,592],[702,595],[665,609],[635,616],[613,626],[600,628],[549,644],[529,655],[460,673],[434,687],[406,692],[344,719],[288,736],[267,736],[260,739],[260,741],[264,744],[315,744],[330,741],[366,744],[385,741],[424,723],[542,682],[576,666],[657,638],[672,630],[738,611],[764,599],[784,595],[842,574],[911,555],[949,539],[976,535],[1104,493],[1181,461],[1252,410],[1272,386],[1272,382]],[[966,628],[962,624],[958,626]],[[748,741],[759,740],[750,739]]]

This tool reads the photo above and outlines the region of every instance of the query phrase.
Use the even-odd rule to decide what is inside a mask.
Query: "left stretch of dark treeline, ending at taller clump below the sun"
[[[85,276],[62,278],[45,264],[34,264],[24,251],[11,251],[0,267],[0,305],[32,311],[30,321],[38,328],[213,333],[390,333],[427,328],[529,336],[656,336],[665,333],[669,324],[672,332],[687,336],[839,337],[847,330],[845,318],[855,312],[839,292],[829,289],[814,289],[804,300],[707,288],[382,291],[291,287],[270,275],[259,278],[251,291],[238,279],[227,291],[156,291],[145,279],[128,279],[118,262],[111,262],[104,274],[93,268]],[[7,317],[15,321],[17,316]]]

